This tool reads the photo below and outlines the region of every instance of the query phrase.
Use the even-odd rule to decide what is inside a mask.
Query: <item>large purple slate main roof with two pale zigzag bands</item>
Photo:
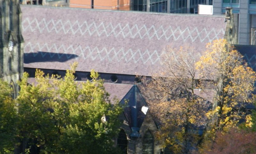
[[[223,15],[21,6],[24,67],[149,75],[168,45],[194,48],[224,37]],[[199,57],[199,56],[198,56]]]

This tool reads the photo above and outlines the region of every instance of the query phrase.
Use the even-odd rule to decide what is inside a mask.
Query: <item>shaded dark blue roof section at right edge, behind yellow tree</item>
[[[256,45],[234,45],[243,56],[248,66],[256,71]]]

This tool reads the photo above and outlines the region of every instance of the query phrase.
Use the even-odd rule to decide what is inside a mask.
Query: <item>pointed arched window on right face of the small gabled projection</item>
[[[143,140],[142,140],[142,153],[143,154],[153,154],[154,150],[153,150],[153,145],[154,145],[154,141],[153,141],[153,135],[151,134],[150,131],[146,131],[146,133],[143,136]]]

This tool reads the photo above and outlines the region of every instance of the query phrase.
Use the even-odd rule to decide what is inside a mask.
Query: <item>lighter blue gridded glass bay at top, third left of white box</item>
[[[150,0],[150,12],[167,12],[167,1]]]

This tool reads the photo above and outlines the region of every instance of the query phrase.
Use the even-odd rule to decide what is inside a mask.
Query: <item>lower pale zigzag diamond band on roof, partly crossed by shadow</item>
[[[62,45],[56,45],[55,43],[52,43],[49,45],[48,43],[44,44],[33,44],[31,42],[27,42],[24,46],[25,57],[29,53],[33,53],[33,57],[38,56],[38,52],[41,52],[39,57],[50,57],[50,58],[63,58],[63,55],[70,55],[74,54],[77,55],[75,59],[83,59],[83,60],[92,60],[92,61],[104,61],[107,60],[109,62],[115,61],[115,62],[131,62],[131,63],[151,63],[155,64],[156,62],[160,61],[161,54],[154,50],[153,52],[150,52],[150,50],[133,50],[133,49],[127,49],[125,50],[123,47],[117,49],[115,47],[108,50],[106,47],[94,47],[91,48],[90,46],[77,46],[73,47],[73,45],[66,46],[64,44]],[[55,52],[53,53],[52,50]],[[163,53],[162,53],[163,54]],[[55,56],[56,55],[56,56]],[[66,57],[67,59],[70,59],[70,56]]]

